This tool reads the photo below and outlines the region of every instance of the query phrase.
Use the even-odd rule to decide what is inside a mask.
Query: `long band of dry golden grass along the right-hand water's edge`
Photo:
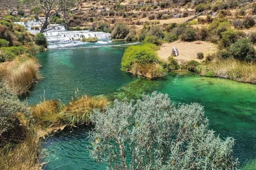
[[[241,82],[256,83],[256,64],[248,64],[235,59],[213,61],[202,69],[202,74],[230,78]]]

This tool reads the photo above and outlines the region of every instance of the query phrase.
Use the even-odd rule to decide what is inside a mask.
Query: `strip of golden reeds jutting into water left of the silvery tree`
[[[68,105],[55,100],[47,101],[30,108],[33,118],[44,128],[59,126],[79,126],[90,123],[93,109],[101,111],[108,105],[104,97],[89,97],[87,95],[69,102]]]

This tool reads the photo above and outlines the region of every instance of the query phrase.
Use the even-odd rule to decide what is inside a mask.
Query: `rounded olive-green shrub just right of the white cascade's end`
[[[112,39],[125,39],[129,34],[129,27],[124,23],[115,24],[114,30],[111,33]]]

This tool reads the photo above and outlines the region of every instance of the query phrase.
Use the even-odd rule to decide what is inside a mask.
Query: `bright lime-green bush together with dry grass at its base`
[[[133,45],[128,47],[122,58],[122,70],[149,78],[161,77],[165,74],[154,44]]]

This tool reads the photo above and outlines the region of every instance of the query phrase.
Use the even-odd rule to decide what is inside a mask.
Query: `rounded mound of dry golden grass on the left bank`
[[[33,58],[26,61],[5,62],[0,65],[4,85],[17,95],[26,93],[35,80],[39,78],[38,69],[39,64]]]

